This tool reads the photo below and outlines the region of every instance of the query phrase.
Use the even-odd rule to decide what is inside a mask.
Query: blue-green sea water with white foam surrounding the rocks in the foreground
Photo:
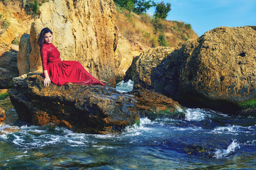
[[[132,88],[132,81],[117,87]],[[256,169],[255,116],[188,108],[185,120],[140,118],[121,135],[88,135],[27,125],[9,98],[0,107],[1,169]]]

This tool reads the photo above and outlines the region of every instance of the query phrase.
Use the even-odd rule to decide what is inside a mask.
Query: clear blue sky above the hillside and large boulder
[[[161,0],[154,0],[159,3]],[[164,0],[167,20],[190,23],[197,35],[220,26],[256,26],[256,0]],[[148,14],[153,15],[155,8]]]

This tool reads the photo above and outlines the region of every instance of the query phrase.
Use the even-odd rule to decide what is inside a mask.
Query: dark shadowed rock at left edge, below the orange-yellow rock
[[[13,77],[18,77],[17,52],[4,52],[0,57],[0,89],[13,87]]]

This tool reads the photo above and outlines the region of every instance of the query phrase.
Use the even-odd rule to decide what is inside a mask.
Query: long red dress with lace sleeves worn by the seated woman
[[[48,70],[50,80],[58,86],[66,83],[101,84],[105,86],[104,83],[91,76],[80,62],[61,61],[60,52],[51,43],[43,44],[41,57],[43,70]],[[44,74],[43,76],[45,77]]]

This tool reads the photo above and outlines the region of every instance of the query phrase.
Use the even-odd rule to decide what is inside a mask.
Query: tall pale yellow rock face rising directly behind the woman
[[[97,79],[116,85],[114,53],[118,35],[112,0],[49,1],[39,11],[40,17],[30,29],[30,72],[42,72],[37,40],[40,30],[48,27],[62,60],[76,60]]]

